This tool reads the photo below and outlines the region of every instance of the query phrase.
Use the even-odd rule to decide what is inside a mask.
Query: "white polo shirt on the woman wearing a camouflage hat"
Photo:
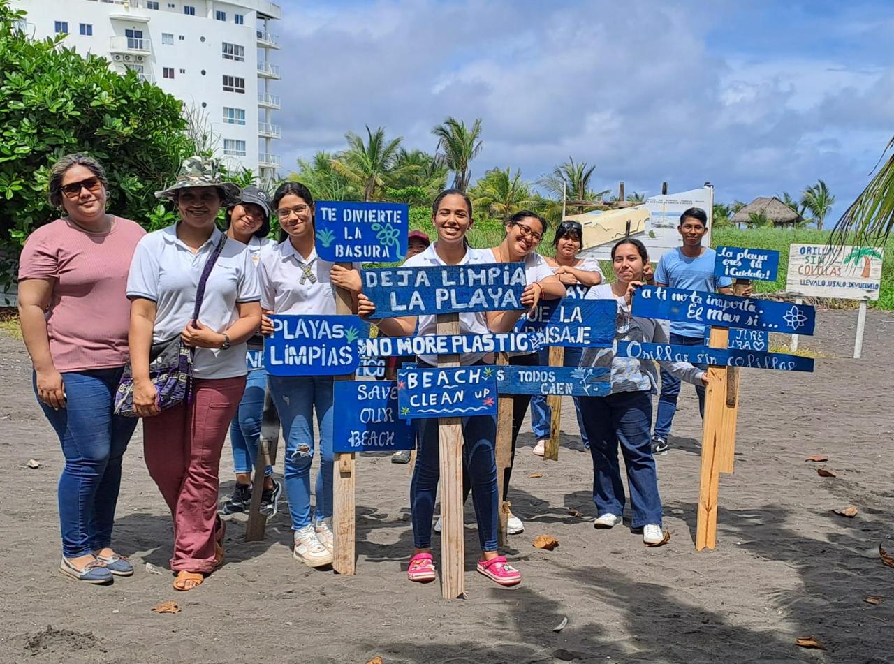
[[[208,256],[220,241],[216,228],[193,254],[177,237],[177,224],[148,233],[139,240],[127,278],[127,297],[156,303],[152,343],[175,339],[192,318],[198,278]],[[261,291],[249,249],[227,240],[205,285],[198,320],[215,332],[225,332],[239,319],[237,304],[257,302]],[[246,374],[245,343],[229,349],[196,349],[192,372],[196,378],[232,378]]]

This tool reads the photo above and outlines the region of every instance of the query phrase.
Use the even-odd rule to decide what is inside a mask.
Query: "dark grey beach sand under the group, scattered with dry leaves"
[[[628,521],[594,529],[592,464],[567,399],[558,462],[531,453],[529,426],[519,439],[510,500],[526,531],[510,536],[506,553],[522,584],[503,589],[475,572],[469,525],[468,599],[454,601],[441,599],[437,582],[406,578],[408,466],[387,455],[358,458],[356,576],[291,558],[283,501],[265,542],[242,542],[244,517],[228,517],[223,567],[197,590],[175,593],[170,517],[144,466],[139,428],[114,535],[137,571],[111,587],[64,578],[56,571],[62,453],[36,405],[21,341],[0,338],[0,661],[892,661],[894,568],[882,565],[879,544],[894,551],[894,315],[870,312],[862,360],[849,358],[855,327],[856,312],[819,314],[817,336],[801,348],[840,357],[818,359],[815,374],[743,372],[736,472],[721,475],[715,551],[693,545],[693,388],[683,387],[671,452],[658,459],[671,531],[658,549],[645,548]],[[813,454],[828,455],[824,466],[838,476],[818,476],[818,464],[805,462]],[[26,467],[30,458],[40,467]],[[230,468],[227,444],[222,496],[232,490]],[[851,504],[855,518],[832,513]],[[470,505],[466,514],[474,524]],[[555,536],[559,548],[533,548],[537,534]],[[867,595],[883,603],[866,603]],[[181,613],[150,610],[170,600]],[[807,636],[828,650],[797,647]]]

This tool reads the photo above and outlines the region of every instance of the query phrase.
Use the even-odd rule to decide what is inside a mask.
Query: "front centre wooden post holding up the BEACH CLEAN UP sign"
[[[438,334],[459,334],[459,314],[439,314]],[[460,356],[438,356],[438,368],[460,366]],[[462,526],[462,419],[438,419],[441,454],[441,595],[445,600],[466,593],[466,549]],[[499,479],[499,478],[498,478]]]

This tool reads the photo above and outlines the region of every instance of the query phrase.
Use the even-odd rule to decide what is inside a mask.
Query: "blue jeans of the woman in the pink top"
[[[58,490],[65,558],[86,556],[112,543],[121,461],[138,422],[113,414],[121,374],[120,367],[66,372],[65,408],[54,410],[38,400],[65,456]],[[37,375],[33,381],[37,394]]]

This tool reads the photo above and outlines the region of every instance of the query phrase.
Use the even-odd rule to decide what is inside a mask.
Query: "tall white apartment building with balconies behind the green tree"
[[[60,32],[80,52],[105,55],[115,71],[137,71],[181,99],[207,123],[215,153],[230,167],[264,181],[281,165],[273,141],[282,137],[271,92],[279,66],[270,55],[279,38],[267,0],[13,0],[28,12],[21,29],[34,38]]]

